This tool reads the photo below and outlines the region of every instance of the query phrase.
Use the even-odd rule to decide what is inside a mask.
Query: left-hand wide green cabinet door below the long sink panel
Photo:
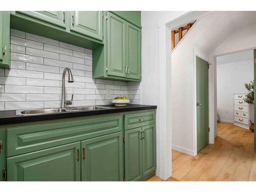
[[[80,181],[80,142],[7,158],[8,181]]]

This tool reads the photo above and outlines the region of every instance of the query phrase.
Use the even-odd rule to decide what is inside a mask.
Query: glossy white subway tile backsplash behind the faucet
[[[140,103],[140,83],[92,78],[93,51],[22,31],[11,30],[11,69],[0,69],[0,110],[54,108],[61,104],[62,72],[71,106],[111,104],[116,96],[128,95]],[[111,96],[106,96],[111,89]]]

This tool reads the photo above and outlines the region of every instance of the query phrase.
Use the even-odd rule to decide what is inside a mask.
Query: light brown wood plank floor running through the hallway
[[[254,135],[232,123],[218,123],[215,144],[192,157],[173,150],[173,178],[167,181],[256,181]],[[163,181],[153,176],[148,181]]]

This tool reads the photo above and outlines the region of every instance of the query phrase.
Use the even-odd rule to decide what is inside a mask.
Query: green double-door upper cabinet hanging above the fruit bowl
[[[104,26],[104,46],[93,52],[93,78],[140,81],[141,28],[110,11]]]

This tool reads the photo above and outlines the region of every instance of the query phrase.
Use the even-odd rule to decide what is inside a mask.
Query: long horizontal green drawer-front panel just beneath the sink
[[[123,130],[122,115],[41,121],[7,129],[7,157]]]

